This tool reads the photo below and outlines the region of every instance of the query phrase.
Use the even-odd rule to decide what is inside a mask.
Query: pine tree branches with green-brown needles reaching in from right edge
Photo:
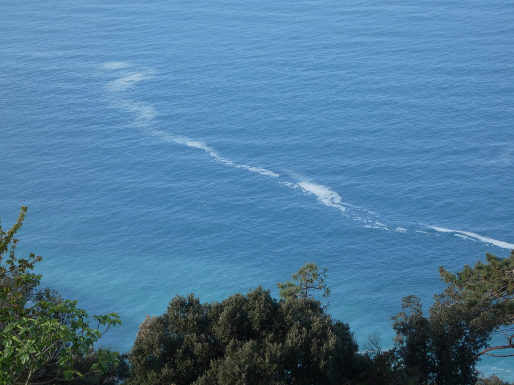
[[[456,274],[442,266],[440,275],[464,296],[470,306],[481,304],[483,311],[495,319],[495,328],[514,323],[514,250],[510,257],[499,258],[486,254],[486,262],[478,261],[474,266],[464,265]],[[492,351],[514,349],[514,334],[506,334],[507,343],[488,347],[479,354],[494,357],[510,357],[514,353],[493,354]]]

